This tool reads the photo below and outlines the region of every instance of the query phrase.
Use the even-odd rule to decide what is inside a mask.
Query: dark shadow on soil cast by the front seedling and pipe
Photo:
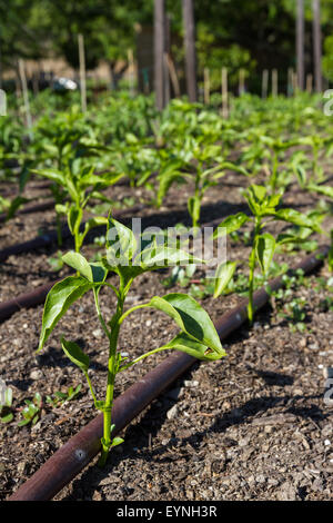
[[[251,371],[253,372],[254,369],[251,368]],[[179,379],[175,384],[173,384],[173,388],[171,391],[165,392],[159,397],[158,401],[153,402],[153,404],[151,404],[149,409],[143,414],[139,422],[128,426],[124,435],[125,442],[122,445],[122,453],[113,453],[112,461],[109,462],[109,464],[107,464],[105,468],[102,471],[99,470],[95,464],[84,471],[82,476],[73,482],[74,492],[79,490],[81,493],[84,492],[84,499],[91,499],[100,482],[109,475],[112,475],[112,468],[124,460],[135,460],[135,457],[138,457],[138,451],[141,451],[140,460],[145,460],[148,462],[154,461],[155,463],[169,463],[174,460],[171,453],[165,457],[165,453],[168,450],[172,451],[176,447],[178,450],[183,448],[189,454],[189,460],[191,460],[192,454],[198,452],[198,448],[208,433],[223,433],[230,426],[245,424],[249,418],[252,418],[259,413],[262,415],[268,413],[269,415],[270,409],[276,406],[285,406],[285,409],[280,414],[294,414],[300,418],[310,418],[314,423],[325,417],[321,408],[315,405],[312,405],[309,408],[297,408],[294,403],[300,399],[301,396],[262,396],[248,401],[239,408],[232,408],[225,412],[221,417],[216,418],[210,427],[202,432],[196,432],[195,434],[191,434],[188,437],[176,437],[174,433],[171,433],[171,437],[167,445],[160,446],[159,448],[152,451],[150,448],[150,441],[157,436],[162,425],[164,424],[168,411],[172,405],[176,404],[176,395],[174,394],[174,391],[182,386],[182,382],[184,379],[191,379],[192,372],[193,368],[189,371],[182,377],[182,379]],[[290,376],[279,373],[261,373],[260,371],[256,371],[256,373],[259,376],[263,377],[268,385],[272,386],[275,384],[290,385],[293,382]],[[321,395],[319,394],[305,397],[302,396],[302,399],[317,399],[320,397]],[[189,450],[189,445],[193,448],[193,453],[191,450]],[[225,438],[225,446],[231,445],[238,445],[238,442]],[[182,454],[182,456],[184,456],[184,454]],[[174,458],[179,458],[178,452],[175,452]],[[130,490],[124,486],[124,500],[130,494]],[[62,501],[74,499],[75,495],[70,494]]]

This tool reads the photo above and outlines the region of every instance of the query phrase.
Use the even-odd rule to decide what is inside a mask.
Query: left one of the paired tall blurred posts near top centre
[[[164,46],[165,46],[165,4],[164,0],[154,3],[154,90],[159,111],[165,106],[164,100]]]

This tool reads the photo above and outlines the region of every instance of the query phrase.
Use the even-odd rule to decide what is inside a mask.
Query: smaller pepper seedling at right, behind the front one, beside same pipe
[[[259,265],[262,274],[266,276],[275,248],[278,245],[283,245],[287,243],[302,243],[304,239],[301,236],[292,234],[280,234],[275,239],[270,233],[265,233],[264,228],[275,220],[286,221],[300,227],[305,227],[310,230],[321,231],[316,223],[314,223],[309,217],[302,215],[301,213],[294,209],[279,209],[276,207],[280,204],[281,195],[268,195],[268,189],[262,186],[251,185],[246,191],[243,193],[252,217],[248,216],[244,213],[239,213],[236,215],[229,216],[223,220],[216,230],[213,234],[213,238],[219,238],[224,235],[229,235],[235,230],[239,230],[244,224],[252,223],[253,226],[253,239],[252,248],[249,258],[249,322],[252,325],[254,317],[254,307],[253,307],[253,290],[254,290],[254,272]],[[222,292],[230,277],[235,269],[234,263],[223,264],[218,268],[216,273],[216,287],[215,287],[215,297],[218,297]],[[220,283],[219,283],[220,282]],[[226,284],[225,284],[226,282]]]

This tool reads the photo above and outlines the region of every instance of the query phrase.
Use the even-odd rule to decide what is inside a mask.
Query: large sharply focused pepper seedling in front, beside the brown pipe
[[[147,245],[148,244],[148,245]],[[63,256],[65,264],[78,273],[56,284],[48,294],[40,335],[39,348],[41,351],[58,322],[68,308],[91,290],[94,297],[97,316],[109,341],[108,379],[104,399],[97,397],[92,386],[89,369],[89,356],[82,352],[74,342],[61,337],[62,349],[72,363],[79,366],[87,377],[95,408],[103,413],[104,427],[101,440],[102,454],[100,464],[103,465],[111,447],[122,443],[120,437],[113,437],[112,405],[114,381],[118,373],[125,371],[151,354],[175,349],[199,359],[214,361],[225,355],[215,327],[208,313],[190,296],[184,294],[169,294],[163,297],[154,296],[150,302],[137,305],[124,310],[125,299],[133,280],[140,275],[176,264],[195,263],[189,253],[178,248],[159,245],[157,238],[147,241],[147,238],[137,238],[131,229],[109,217],[107,231],[107,256],[100,263],[89,263],[81,254],[70,251]],[[118,276],[118,286],[107,282],[110,273]],[[111,318],[104,318],[99,304],[99,294],[102,288],[110,288],[117,297],[115,312]],[[128,362],[119,351],[119,334],[125,318],[134,310],[152,307],[165,313],[178,327],[178,334],[171,342],[161,347]]]

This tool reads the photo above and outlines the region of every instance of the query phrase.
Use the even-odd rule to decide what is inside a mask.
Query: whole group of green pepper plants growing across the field
[[[192,230],[202,224],[204,195],[214,186],[223,186],[223,177],[235,172],[244,178],[241,189],[248,211],[224,216],[213,238],[243,238],[250,247],[245,274],[249,297],[249,323],[254,320],[253,293],[256,282],[272,275],[276,253],[313,250],[317,243],[312,235],[329,236],[322,225],[332,214],[333,188],[327,165],[333,155],[332,121],[325,117],[316,97],[299,95],[293,99],[260,100],[243,96],[233,100],[228,120],[216,108],[173,100],[162,112],[153,99],[117,93],[99,99],[88,114],[79,106],[59,110],[54,95],[43,93],[46,107],[36,103],[34,125],[30,137],[20,118],[0,120],[0,169],[3,181],[17,184],[14,198],[1,198],[0,205],[10,219],[29,199],[24,195],[32,177],[47,178],[54,201],[58,244],[62,245],[62,221],[67,219],[74,249],[63,254],[62,263],[75,270],[50,290],[42,318],[39,351],[69,307],[84,294],[92,293],[97,318],[109,341],[108,376],[104,398],[97,397],[88,369],[89,356],[73,341],[61,338],[67,356],[84,374],[94,406],[104,416],[102,454],[104,464],[111,447],[122,443],[113,437],[112,404],[117,375],[147,356],[161,351],[181,351],[203,361],[225,356],[214,325],[193,295],[171,293],[152,296],[143,305],[127,308],[127,297],[135,278],[142,274],[173,266],[171,279],[190,279],[196,264],[203,260],[190,255],[182,244],[161,246],[160,238],[149,241],[112,216],[114,199],[105,189],[121,179],[133,188],[144,187],[150,197],[147,206],[160,208],[173,185],[189,188],[188,213]],[[304,215],[284,205],[284,195],[296,182],[300,190],[317,194],[323,199],[317,208]],[[108,193],[109,194],[109,193]],[[95,204],[109,208],[84,221],[85,211],[93,214]],[[224,219],[222,217],[224,216]],[[286,230],[272,234],[271,224],[285,223]],[[87,234],[97,226],[105,227],[103,255],[98,262],[82,253]],[[242,230],[246,231],[242,236]],[[331,237],[333,234],[331,233]],[[158,240],[159,239],[159,240]],[[119,249],[119,246],[121,247]],[[181,268],[181,265],[186,268]],[[333,268],[331,247],[329,264]],[[214,298],[232,289],[238,262],[228,260],[216,267],[211,292]],[[258,269],[262,279],[258,277]],[[115,280],[117,278],[117,280]],[[185,278],[186,279],[186,278]],[[100,290],[108,287],[117,297],[111,317],[103,317]],[[152,307],[167,314],[178,325],[179,334],[168,344],[152,348],[135,359],[122,358],[119,333],[128,316],[140,308]]]

